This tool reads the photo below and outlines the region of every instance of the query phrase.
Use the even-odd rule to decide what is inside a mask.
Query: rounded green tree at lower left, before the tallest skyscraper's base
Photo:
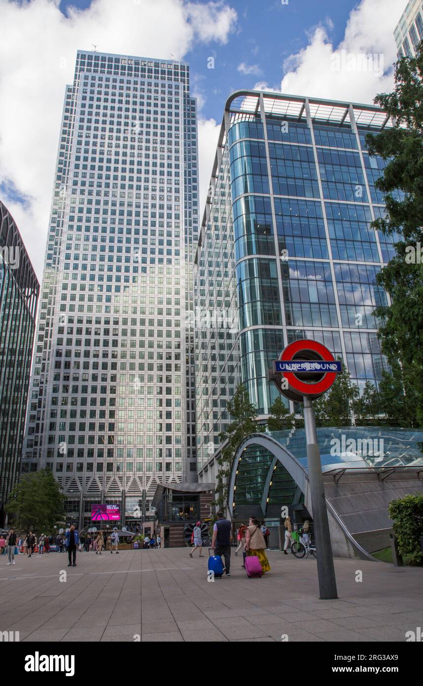
[[[21,476],[10,493],[6,512],[17,529],[34,530],[38,534],[51,530],[64,519],[64,495],[49,469],[40,469]]]

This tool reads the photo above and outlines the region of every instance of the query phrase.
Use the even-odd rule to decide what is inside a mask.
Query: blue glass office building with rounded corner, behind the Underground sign
[[[195,257],[199,469],[237,383],[265,421],[268,368],[293,340],[325,344],[359,388],[388,368],[373,312],[393,248],[370,228],[384,163],[365,144],[385,126],[375,106],[256,91],[226,102]]]

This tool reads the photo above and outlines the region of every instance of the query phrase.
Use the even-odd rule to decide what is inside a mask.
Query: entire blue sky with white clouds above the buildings
[[[200,215],[228,95],[261,88],[372,103],[394,86],[406,0],[0,0],[0,198],[39,278],[77,49],[186,60],[199,103]],[[25,50],[22,46],[25,46]],[[345,51],[376,71],[332,69]],[[30,56],[30,58],[28,58]],[[214,69],[208,69],[214,58]],[[335,58],[335,59],[334,59]],[[378,60],[378,64],[380,60]],[[359,61],[357,60],[357,64]],[[243,67],[240,66],[243,65]],[[285,65],[285,67],[284,67]]]

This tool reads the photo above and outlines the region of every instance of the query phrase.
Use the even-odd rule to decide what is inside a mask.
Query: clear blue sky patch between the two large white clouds
[[[90,0],[62,1],[60,9],[66,13],[68,5],[86,9],[90,4]],[[221,121],[226,97],[239,88],[252,88],[261,81],[279,88],[284,60],[306,47],[308,33],[319,23],[327,27],[330,19],[333,28],[328,33],[333,43],[338,44],[348,16],[357,4],[355,0],[289,0],[287,5],[282,5],[280,0],[229,1],[238,19],[237,29],[228,43],[195,43],[185,56],[191,69],[191,90],[205,99],[202,115]],[[96,42],[93,36],[93,43]],[[99,45],[98,49],[108,51],[107,45]],[[162,54],[143,56],[170,58]],[[207,67],[209,57],[215,58],[214,69]],[[256,65],[261,71],[246,75],[237,70],[241,63],[248,67]]]

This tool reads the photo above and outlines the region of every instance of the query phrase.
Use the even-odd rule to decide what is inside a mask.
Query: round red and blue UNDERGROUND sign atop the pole
[[[342,371],[341,362],[317,341],[304,339],[290,343],[273,363],[270,378],[282,395],[302,402],[304,395],[319,397]]]

